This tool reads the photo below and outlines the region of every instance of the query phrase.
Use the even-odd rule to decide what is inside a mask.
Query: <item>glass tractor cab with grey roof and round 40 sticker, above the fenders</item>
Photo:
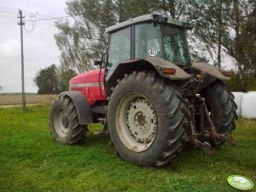
[[[147,14],[113,25],[110,34],[107,68],[122,62],[161,58],[179,67],[191,65],[185,31],[191,25],[158,14]]]

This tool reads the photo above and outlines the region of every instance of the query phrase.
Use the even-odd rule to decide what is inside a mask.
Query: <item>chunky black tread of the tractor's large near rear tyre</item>
[[[116,88],[114,88],[113,93],[111,94],[111,99],[116,97],[117,89],[122,88],[123,83],[135,80],[147,82],[148,86],[153,88],[159,95],[159,102],[162,102],[162,105],[164,106],[162,110],[165,111],[165,123],[168,130],[165,138],[162,138],[162,150],[156,151],[155,158],[149,161],[139,161],[137,163],[139,165],[151,167],[164,166],[168,164],[169,161],[173,160],[177,153],[182,150],[182,139],[185,134],[184,121],[187,120],[181,109],[187,109],[186,101],[183,99],[179,88],[176,88],[169,82],[164,81],[161,76],[156,76],[156,73],[145,71],[134,71],[132,74],[122,78],[120,83],[118,83]],[[174,105],[174,103],[177,104]],[[109,111],[112,112],[111,108],[112,100],[109,103]],[[109,127],[111,127],[111,125],[109,125]],[[111,138],[111,143],[115,148],[116,154],[121,156],[122,159],[128,160],[117,151],[117,148],[115,147],[115,138]]]

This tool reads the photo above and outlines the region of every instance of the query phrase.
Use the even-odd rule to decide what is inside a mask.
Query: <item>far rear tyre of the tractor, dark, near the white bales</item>
[[[236,104],[234,95],[225,87],[225,84],[223,82],[214,82],[204,88],[200,94],[206,99],[216,132],[223,135],[232,133],[236,128]],[[225,144],[225,141],[211,139],[210,143],[213,146],[220,146]]]

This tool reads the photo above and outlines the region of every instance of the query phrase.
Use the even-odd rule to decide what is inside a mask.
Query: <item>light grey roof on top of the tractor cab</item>
[[[175,19],[172,19],[172,18],[168,18],[166,16],[162,16],[160,14],[145,14],[145,15],[141,15],[139,17],[135,17],[134,19],[131,19],[131,20],[123,21],[122,23],[118,23],[116,25],[112,25],[112,26],[106,28],[105,32],[106,33],[112,33],[114,31],[119,31],[122,28],[125,28],[129,25],[134,25],[134,24],[137,24],[137,23],[145,22],[145,21],[156,21],[156,22],[159,22],[159,23],[168,23],[168,24],[171,24],[171,25],[178,25],[178,26],[181,26],[181,27],[185,27],[185,29],[188,29],[188,30],[192,29],[191,24],[189,24],[187,22],[184,22],[184,21],[181,21],[181,20],[175,20]]]

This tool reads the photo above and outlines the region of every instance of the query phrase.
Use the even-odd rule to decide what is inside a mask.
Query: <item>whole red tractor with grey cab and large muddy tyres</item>
[[[76,144],[88,123],[102,122],[122,159],[143,166],[167,164],[184,144],[207,153],[235,144],[236,104],[225,87],[230,72],[192,63],[191,25],[147,14],[105,30],[100,70],[75,76],[52,104],[49,127],[60,144]],[[101,66],[103,66],[101,69]]]

